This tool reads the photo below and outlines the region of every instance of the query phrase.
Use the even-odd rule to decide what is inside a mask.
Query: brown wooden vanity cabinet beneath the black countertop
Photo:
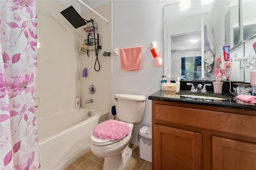
[[[256,112],[152,101],[153,170],[256,170]]]

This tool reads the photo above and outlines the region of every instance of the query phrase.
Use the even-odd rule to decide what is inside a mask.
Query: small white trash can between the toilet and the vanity
[[[151,127],[140,129],[138,140],[140,142],[140,158],[152,162],[152,130]]]

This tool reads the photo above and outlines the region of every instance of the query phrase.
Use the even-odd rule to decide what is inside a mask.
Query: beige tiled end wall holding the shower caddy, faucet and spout
[[[98,53],[98,59],[100,62],[100,71],[94,70],[94,64],[96,56],[94,56],[94,51],[89,52],[89,57],[87,54],[81,57],[81,71],[82,75],[83,69],[86,67],[88,70],[88,77],[81,77],[81,106],[109,111],[111,115],[112,107],[112,87],[111,87],[111,74],[112,74],[112,56],[103,56],[103,52],[112,52],[112,3],[105,4],[99,8],[94,9],[104,18],[110,21],[110,24],[100,18],[93,12],[86,12],[82,14],[82,18],[85,20],[94,19],[94,22],[98,24],[98,34],[99,34],[99,45],[102,45],[102,50]],[[87,24],[86,26],[88,26]],[[86,27],[85,26],[85,27]],[[85,27],[81,29],[81,44],[87,39],[87,33],[84,32]],[[95,33],[96,34],[96,33]],[[97,36],[96,36],[97,37]],[[86,46],[87,48],[87,46]],[[89,46],[88,49],[95,49],[94,45]],[[96,70],[98,70],[98,62],[96,63]],[[96,87],[96,93],[89,94],[88,88],[90,85]],[[93,103],[85,104],[88,99],[93,99]]]

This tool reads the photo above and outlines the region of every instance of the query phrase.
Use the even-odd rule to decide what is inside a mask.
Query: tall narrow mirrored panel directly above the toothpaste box
[[[240,43],[239,0],[232,0],[225,11],[225,45],[230,48]]]

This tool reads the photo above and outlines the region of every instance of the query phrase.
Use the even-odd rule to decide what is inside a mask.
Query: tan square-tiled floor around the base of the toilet
[[[124,170],[152,170],[151,162],[140,158],[139,146],[130,144],[132,158]],[[65,170],[102,170],[104,158],[100,158],[92,153],[91,150],[83,154],[75,162],[70,164]]]

